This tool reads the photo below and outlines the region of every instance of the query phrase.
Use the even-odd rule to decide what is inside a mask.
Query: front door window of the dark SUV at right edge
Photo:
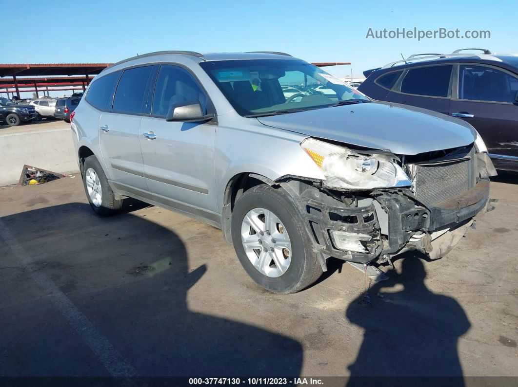
[[[458,98],[514,103],[518,78],[485,66],[459,67]]]

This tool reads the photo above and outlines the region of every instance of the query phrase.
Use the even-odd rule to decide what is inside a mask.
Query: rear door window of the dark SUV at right
[[[453,66],[410,69],[401,82],[401,92],[429,97],[448,97]]]

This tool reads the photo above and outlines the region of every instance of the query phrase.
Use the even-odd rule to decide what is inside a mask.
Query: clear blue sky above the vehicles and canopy
[[[307,61],[351,62],[326,70],[344,76],[352,68],[361,76],[400,53],[467,47],[518,52],[516,1],[29,0],[23,9],[0,0],[1,13],[20,21],[2,28],[0,63],[111,63],[161,50],[268,50]],[[366,39],[369,28],[397,27],[490,30],[491,39]]]

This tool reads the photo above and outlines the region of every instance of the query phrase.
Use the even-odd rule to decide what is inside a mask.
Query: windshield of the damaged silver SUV
[[[361,92],[303,60],[221,60],[200,66],[245,117],[318,109],[340,101],[369,102]]]

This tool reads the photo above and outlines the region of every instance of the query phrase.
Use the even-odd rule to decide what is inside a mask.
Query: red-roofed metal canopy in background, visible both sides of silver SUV
[[[22,91],[35,91],[36,97],[38,97],[38,89],[45,93],[46,90],[49,90],[49,87],[61,87],[59,90],[75,90],[80,86],[84,91],[91,81],[90,75],[96,75],[111,65],[111,63],[0,64],[0,92],[7,92],[8,96],[9,92],[16,93],[20,98],[20,88],[24,89]],[[327,67],[350,65],[350,63],[316,62],[313,65]],[[18,78],[20,76],[26,78]],[[10,90],[12,88],[14,90]],[[30,90],[27,88],[30,88]]]

